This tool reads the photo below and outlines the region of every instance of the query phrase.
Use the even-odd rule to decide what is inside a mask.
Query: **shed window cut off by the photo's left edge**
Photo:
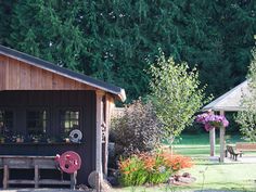
[[[13,112],[0,110],[0,133],[5,135],[13,129]]]

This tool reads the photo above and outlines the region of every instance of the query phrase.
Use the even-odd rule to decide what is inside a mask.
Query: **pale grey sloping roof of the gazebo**
[[[242,111],[241,99],[243,95],[248,95],[248,82],[247,80],[238,85],[227,93],[212,101],[209,104],[203,107],[203,111],[226,111],[226,112],[236,112]]]

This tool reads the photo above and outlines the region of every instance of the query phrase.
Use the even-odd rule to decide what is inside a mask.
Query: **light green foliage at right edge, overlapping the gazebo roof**
[[[256,141],[256,48],[253,51],[254,60],[247,75],[249,94],[244,95],[245,111],[238,113],[236,121],[241,125],[241,132],[251,141]]]

